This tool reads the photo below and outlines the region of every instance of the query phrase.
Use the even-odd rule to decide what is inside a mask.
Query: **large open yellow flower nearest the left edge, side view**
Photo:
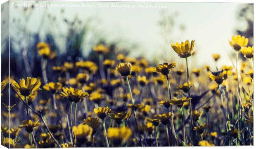
[[[26,80],[22,78],[19,84],[13,80],[11,84],[13,89],[20,92],[22,96],[29,96],[33,92],[41,90],[39,88],[41,83],[37,78],[27,77]]]

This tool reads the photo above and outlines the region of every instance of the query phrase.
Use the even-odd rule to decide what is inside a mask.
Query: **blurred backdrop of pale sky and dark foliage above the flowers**
[[[33,7],[15,7],[17,4],[32,4]],[[95,7],[81,7],[82,4]],[[122,52],[129,57],[145,57],[153,64],[173,61],[185,64],[170,44],[194,39],[196,54],[190,60],[191,67],[215,66],[213,53],[221,54],[217,66],[222,66],[231,65],[230,56],[234,50],[229,40],[232,35],[241,34],[249,38],[248,46],[253,45],[253,4],[12,1],[10,5],[10,50],[14,72],[24,69],[24,56],[28,58],[31,70],[37,66],[36,44],[40,41],[49,43],[57,52],[56,65],[62,64],[63,60],[94,59],[97,55],[92,52],[92,47],[99,43],[114,51],[109,53],[109,58]],[[112,5],[161,8],[114,8]],[[8,22],[3,18],[1,23],[1,55],[5,63],[8,32],[4,25]],[[7,69],[2,66],[2,70]],[[31,70],[27,72],[33,73]]]

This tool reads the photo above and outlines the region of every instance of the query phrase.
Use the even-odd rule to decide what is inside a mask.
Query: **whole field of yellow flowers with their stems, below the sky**
[[[171,44],[185,59],[185,68],[175,62],[154,66],[121,53],[116,60],[107,59],[110,48],[99,44],[93,47],[99,62],[63,62],[50,68],[54,76],[47,76],[47,61],[56,54],[40,42],[43,81],[27,77],[17,83],[10,77],[1,82],[1,93],[10,83],[13,98],[26,110],[17,117],[17,101],[3,103],[7,112],[2,115],[10,116],[12,127],[1,126],[2,144],[44,148],[252,145],[254,47],[247,44],[245,37],[232,37],[236,65],[216,71],[205,65],[191,72],[188,58],[195,40]],[[241,70],[239,52],[246,58]],[[220,58],[213,54],[214,62]],[[20,128],[27,133],[21,134]],[[20,143],[18,135],[29,142]]]

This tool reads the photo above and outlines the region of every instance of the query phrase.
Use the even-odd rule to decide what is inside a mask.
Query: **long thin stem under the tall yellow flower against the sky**
[[[188,92],[188,97],[190,98],[190,76],[189,76],[189,71],[188,71],[188,64],[187,64],[187,57],[186,57],[186,66],[187,66],[187,92]],[[192,142],[195,145],[194,142],[194,125],[193,125],[193,117],[192,117],[192,103],[191,100],[189,101],[190,103],[190,129],[191,129],[191,136],[192,136]]]

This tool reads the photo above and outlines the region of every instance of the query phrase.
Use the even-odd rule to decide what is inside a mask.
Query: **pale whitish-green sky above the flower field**
[[[13,1],[14,2],[14,1]],[[22,4],[26,1],[17,1]],[[27,2],[29,3],[29,2]],[[31,3],[31,2],[30,2]],[[45,4],[46,2],[39,2]],[[39,4],[38,3],[38,4]],[[74,16],[82,20],[95,18],[99,23],[93,28],[99,30],[108,37],[109,41],[117,39],[127,40],[128,43],[136,43],[139,47],[131,53],[132,56],[143,55],[147,59],[161,53],[161,44],[163,39],[160,34],[160,28],[157,21],[160,18],[159,11],[165,10],[168,14],[178,12],[179,16],[175,23],[182,23],[186,30],[180,32],[175,29],[173,42],[194,39],[195,50],[197,51],[197,64],[213,63],[212,54],[220,53],[219,64],[231,64],[228,53],[232,52],[228,40],[235,34],[237,28],[245,29],[246,25],[237,21],[237,11],[244,4],[238,3],[179,3],[179,2],[49,2],[53,4],[73,4],[73,5],[95,5],[113,4],[122,5],[164,5],[167,8],[85,8],[85,7],[48,7],[47,12],[57,16],[57,21],[61,21],[60,10],[64,8],[64,16],[72,20]],[[31,15],[28,28],[35,32],[39,25],[39,18],[43,16],[45,7],[35,7]],[[11,7],[13,16],[21,15],[20,8]],[[21,15],[22,16],[22,15]],[[59,22],[58,28],[66,32],[62,22]],[[51,28],[51,27],[50,27]],[[49,28],[45,28],[46,30]],[[42,31],[43,34],[44,31]],[[42,35],[43,36],[43,35]],[[170,46],[169,43],[167,46]],[[86,51],[86,47],[84,48]],[[170,46],[170,50],[172,48]],[[170,57],[178,59],[178,56],[172,51]],[[160,60],[161,62],[161,60]]]

